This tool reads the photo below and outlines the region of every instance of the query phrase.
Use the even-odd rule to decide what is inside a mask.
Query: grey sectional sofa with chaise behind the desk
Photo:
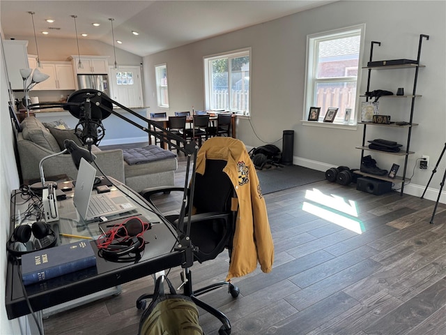
[[[40,179],[38,168],[40,160],[60,152],[65,139],[74,140],[79,146],[82,145],[74,130],[48,127],[36,117],[27,117],[21,126],[22,132],[18,133],[17,137],[17,149],[24,181]],[[146,188],[175,185],[175,171],[178,168],[176,158],[129,165],[124,161],[121,149],[100,150],[93,146],[91,151],[96,156],[95,162],[106,175],[124,182],[134,191],[141,192]],[[66,174],[72,179],[77,177],[77,169],[70,154],[46,159],[43,170],[47,177],[58,174]]]

